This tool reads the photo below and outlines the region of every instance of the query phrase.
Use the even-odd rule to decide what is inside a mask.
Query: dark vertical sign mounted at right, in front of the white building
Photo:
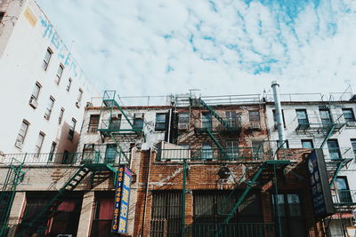
[[[315,149],[306,159],[309,181],[312,190],[312,203],[316,217],[327,217],[334,214],[328,171],[321,149]]]

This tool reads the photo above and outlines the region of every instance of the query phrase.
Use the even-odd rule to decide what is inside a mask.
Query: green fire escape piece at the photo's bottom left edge
[[[26,155],[25,155],[26,158]],[[4,185],[0,193],[0,236],[6,236],[8,220],[16,188],[22,182],[25,172],[22,171],[23,162],[12,159],[7,170]]]

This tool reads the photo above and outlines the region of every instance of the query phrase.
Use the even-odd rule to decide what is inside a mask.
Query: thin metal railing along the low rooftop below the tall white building
[[[128,153],[125,153],[128,156]],[[109,152],[83,152],[83,153],[41,153],[41,154],[4,154],[0,155],[0,165],[10,164],[12,159],[24,162],[27,165],[80,165],[87,163],[125,163],[123,154],[115,150]]]

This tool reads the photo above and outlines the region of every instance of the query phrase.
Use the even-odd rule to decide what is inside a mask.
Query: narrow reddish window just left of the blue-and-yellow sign
[[[115,194],[95,197],[91,237],[114,236],[111,233],[112,210],[114,209]]]

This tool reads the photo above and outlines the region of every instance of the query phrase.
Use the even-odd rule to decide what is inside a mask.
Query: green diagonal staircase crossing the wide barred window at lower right
[[[223,236],[222,235],[223,234],[223,226],[228,225],[229,222],[231,221],[231,218],[235,217],[236,212],[239,210],[239,206],[245,200],[245,198],[247,197],[247,194],[255,186],[255,184],[258,180],[260,180],[261,183],[271,181],[272,178],[276,178],[277,171],[280,170],[280,171],[284,172],[284,169],[289,164],[290,164],[290,161],[288,161],[288,160],[273,160],[273,161],[263,162],[261,164],[261,166],[259,167],[259,169],[255,172],[255,176],[250,181],[246,182],[247,186],[246,186],[244,192],[239,197],[239,200],[235,202],[234,206],[231,209],[231,212],[224,215],[226,217],[223,220],[223,222],[219,225],[219,228],[215,233],[215,237]],[[232,192],[235,192],[235,190],[236,189],[232,190]],[[277,193],[277,186],[275,186],[274,191],[275,191],[274,193]]]

